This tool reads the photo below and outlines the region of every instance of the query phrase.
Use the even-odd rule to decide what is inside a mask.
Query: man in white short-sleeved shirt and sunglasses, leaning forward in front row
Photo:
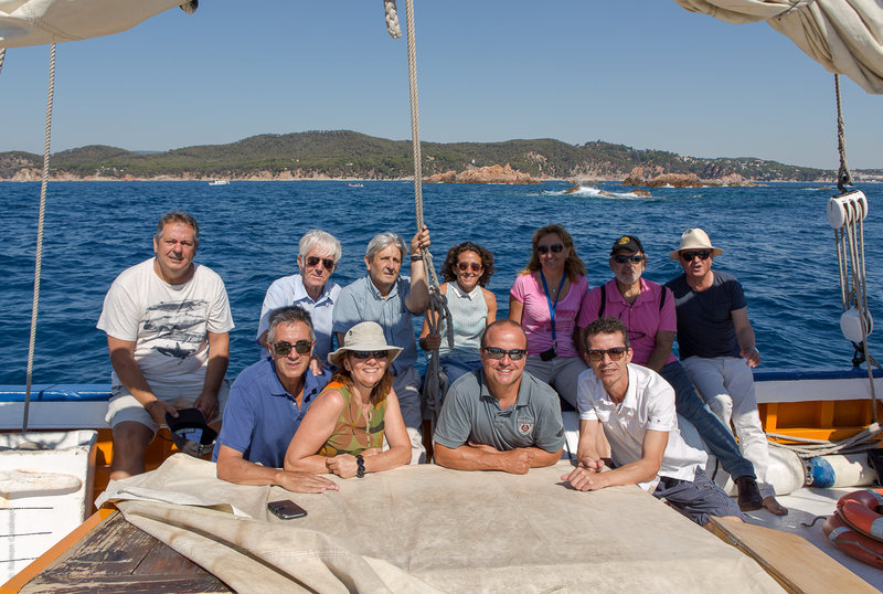
[[[700,526],[712,516],[742,519],[736,502],[702,470],[705,453],[681,437],[674,390],[651,369],[631,364],[627,332],[618,318],[599,318],[585,329],[592,369],[577,386],[578,466],[562,480],[581,491],[638,485]],[[597,452],[599,427],[610,444],[613,470]]]

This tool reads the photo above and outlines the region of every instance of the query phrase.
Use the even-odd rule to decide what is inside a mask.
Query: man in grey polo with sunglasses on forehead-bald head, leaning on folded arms
[[[481,337],[481,369],[448,390],[435,429],[435,462],[457,470],[517,475],[552,466],[564,447],[558,395],[524,373],[528,337],[497,320]]]

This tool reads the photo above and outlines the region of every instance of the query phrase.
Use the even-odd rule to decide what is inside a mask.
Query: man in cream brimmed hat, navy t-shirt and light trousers
[[[730,426],[732,418],[742,454],[754,464],[764,507],[788,513],[767,480],[769,446],[760,426],[752,368],[760,364],[742,285],[730,274],[712,272],[723,253],[701,229],[688,229],[669,254],[683,274],[669,280],[678,315],[678,347],[687,374],[711,410]]]

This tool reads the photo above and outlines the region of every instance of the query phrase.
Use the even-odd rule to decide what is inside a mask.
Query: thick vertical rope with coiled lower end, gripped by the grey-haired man
[[[402,35],[398,25],[398,14],[395,0],[384,0],[384,13],[386,18],[386,29],[393,39]],[[417,231],[424,225],[423,219],[423,158],[421,155],[421,123],[419,106],[417,102],[417,47],[414,33],[414,1],[405,1],[405,26],[407,30],[407,72],[408,72],[408,93],[411,96],[411,144],[414,156],[414,211],[417,221]],[[429,308],[426,311],[426,323],[430,333],[438,333],[438,329],[444,320],[447,325],[448,344],[454,347],[454,327],[450,323],[450,311],[447,307],[447,298],[442,294],[438,286],[438,276],[433,265],[433,255],[429,250],[421,250],[423,265],[427,272],[427,284],[429,285]],[[429,363],[426,369],[426,380],[424,382],[423,395],[426,409],[432,415],[432,421],[438,414],[439,396],[444,390],[442,375],[439,373],[438,349],[429,354]]]

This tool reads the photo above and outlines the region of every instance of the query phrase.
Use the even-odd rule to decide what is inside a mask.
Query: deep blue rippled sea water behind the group
[[[490,247],[497,274],[488,288],[504,316],[509,288],[539,226],[557,222],[573,234],[592,286],[610,278],[607,257],[620,234],[640,236],[649,256],[646,277],[664,282],[681,272],[668,258],[681,232],[701,226],[725,251],[714,267],[742,280],[764,368],[850,367],[852,347],[838,321],[833,231],[826,219],[833,188],[653,189],[652,198],[639,198],[616,183],[595,187],[607,195],[594,190],[564,194],[568,185],[425,185],[436,264],[461,241]],[[858,188],[870,202],[864,225],[869,305],[881,311],[883,185]],[[25,381],[39,197],[39,183],[0,182],[0,384]],[[391,230],[409,238],[415,230],[409,182],[366,181],[363,188],[344,181],[51,183],[35,383],[109,382],[107,342],[95,328],[104,295],[119,272],[152,255],[156,221],[173,209],[196,218],[196,261],[226,284],[236,323],[230,378],[258,357],[254,337],[264,293],[274,279],[295,272],[305,231],[320,227],[341,240],[343,257],[333,278],[347,285],[364,274],[364,248],[374,233]],[[870,344],[874,352],[879,338]]]

